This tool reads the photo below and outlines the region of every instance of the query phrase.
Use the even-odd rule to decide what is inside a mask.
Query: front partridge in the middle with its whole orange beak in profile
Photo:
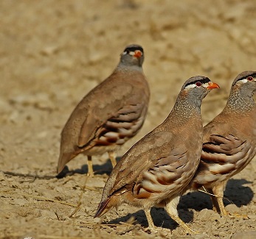
[[[201,101],[214,88],[219,86],[206,76],[193,76],[184,83],[165,121],[135,143],[114,167],[94,218],[125,202],[141,207],[148,229],[154,230],[151,207],[164,207],[186,232],[195,233],[179,218],[177,204],[200,161]]]

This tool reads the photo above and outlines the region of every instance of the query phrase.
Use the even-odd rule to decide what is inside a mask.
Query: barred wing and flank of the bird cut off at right
[[[249,141],[239,140],[234,135],[211,135],[210,142],[203,144],[196,181],[204,185],[218,180],[218,175],[232,174],[245,165],[251,151]]]

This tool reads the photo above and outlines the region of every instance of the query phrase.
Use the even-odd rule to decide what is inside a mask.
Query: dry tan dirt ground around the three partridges
[[[129,43],[145,50],[151,104],[119,156],[165,119],[190,76],[221,86],[202,105],[204,124],[214,118],[235,76],[255,70],[255,0],[8,0],[0,1],[0,13],[0,238],[255,238],[256,159],[225,191],[226,208],[248,220],[222,218],[204,193],[181,197],[179,215],[201,232],[196,236],[157,208],[156,234],[145,231],[142,210],[125,204],[103,224],[94,219],[111,172],[107,154],[94,157],[93,178],[85,157],[69,163],[76,174],[55,178],[69,114],[111,74]]]

